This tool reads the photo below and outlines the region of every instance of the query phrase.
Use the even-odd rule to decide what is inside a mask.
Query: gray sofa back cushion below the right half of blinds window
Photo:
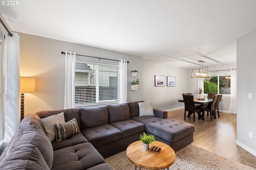
[[[107,105],[108,107],[108,123],[124,121],[131,119],[130,109],[127,103],[116,105]]]

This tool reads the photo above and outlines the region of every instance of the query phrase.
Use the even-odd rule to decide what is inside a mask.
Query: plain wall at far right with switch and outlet
[[[256,156],[256,31],[237,40],[237,141]],[[252,99],[248,99],[252,93]],[[252,138],[249,138],[249,131]]]

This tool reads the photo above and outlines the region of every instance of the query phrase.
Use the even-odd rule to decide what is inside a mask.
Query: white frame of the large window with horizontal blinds
[[[100,106],[100,105],[107,105],[107,104],[117,104],[120,101],[120,97],[119,97],[119,90],[120,90],[120,82],[119,82],[119,64],[115,64],[115,63],[104,63],[104,62],[97,62],[97,61],[88,61],[88,60],[81,60],[81,59],[76,59],[76,63],[85,63],[85,64],[94,64],[94,65],[98,65],[96,66],[96,68],[98,68],[99,66],[107,66],[107,67],[117,67],[117,83],[118,83],[118,90],[117,90],[117,98],[118,99],[111,99],[111,100],[104,100],[104,101],[100,101],[99,100],[99,75],[96,74],[96,102],[95,103],[81,103],[81,104],[75,104],[75,108],[80,108],[80,107],[90,107],[90,106]],[[96,69],[97,71],[99,71],[98,69]],[[76,72],[76,69],[75,69]],[[113,76],[112,76],[113,77]],[[76,77],[75,77],[76,79]],[[74,87],[76,87],[74,85]],[[74,92],[75,94],[75,92]],[[74,99],[75,100],[75,99]],[[75,103],[75,101],[74,101]]]

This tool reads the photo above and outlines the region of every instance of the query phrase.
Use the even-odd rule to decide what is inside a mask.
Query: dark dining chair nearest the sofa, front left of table
[[[193,122],[195,121],[195,113],[200,114],[200,106],[195,106],[194,104],[194,96],[193,95],[183,95],[185,111],[184,111],[184,120],[186,119],[186,112],[193,113]]]

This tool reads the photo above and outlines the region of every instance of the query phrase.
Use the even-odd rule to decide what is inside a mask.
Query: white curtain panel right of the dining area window
[[[236,114],[236,69],[231,69],[230,75],[230,107],[229,112]]]

